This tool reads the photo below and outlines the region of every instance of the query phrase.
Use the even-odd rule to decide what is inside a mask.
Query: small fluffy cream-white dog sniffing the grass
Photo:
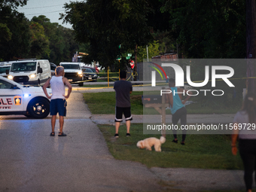
[[[149,151],[152,151],[151,147],[154,145],[154,151],[161,151],[161,145],[166,142],[166,139],[161,136],[160,139],[155,137],[150,137],[144,140],[137,142],[138,148],[146,148]]]

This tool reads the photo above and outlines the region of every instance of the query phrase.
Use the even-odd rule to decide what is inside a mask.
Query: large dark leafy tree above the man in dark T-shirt
[[[146,0],[88,0],[65,5],[65,22],[72,24],[75,38],[90,43],[86,62],[112,66],[122,45],[122,53],[152,40],[146,16],[151,13]],[[125,65],[125,59],[120,65]]]

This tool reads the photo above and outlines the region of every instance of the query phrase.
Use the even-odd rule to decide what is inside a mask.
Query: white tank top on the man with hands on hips
[[[55,77],[53,76],[50,79],[50,87],[52,90],[52,96],[50,99],[65,99],[65,85],[62,81],[62,76]]]

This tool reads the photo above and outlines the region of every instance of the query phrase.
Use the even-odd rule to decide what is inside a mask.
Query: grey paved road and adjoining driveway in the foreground
[[[96,126],[100,120],[104,121],[103,117],[110,118],[92,115],[82,94],[73,91],[68,99],[64,124],[64,133],[68,136],[65,138],[49,136],[50,117],[44,120],[2,118],[0,191],[128,192],[245,188],[242,171],[148,169],[141,163],[115,160]],[[56,133],[57,129],[58,121]]]

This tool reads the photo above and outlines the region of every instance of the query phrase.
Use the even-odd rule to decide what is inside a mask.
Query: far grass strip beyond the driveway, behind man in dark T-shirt
[[[94,85],[93,85],[94,86]],[[86,86],[87,87],[87,86]],[[99,85],[103,87],[103,85]],[[133,91],[131,94],[131,111],[132,114],[157,114],[154,108],[143,108],[142,91]],[[115,112],[115,93],[84,93],[84,100],[92,114],[114,114]],[[195,100],[197,101],[197,100]],[[203,105],[202,102],[196,102],[187,105],[188,114],[234,114],[241,106],[227,108],[224,105]],[[170,110],[166,110],[166,114],[170,114]]]

